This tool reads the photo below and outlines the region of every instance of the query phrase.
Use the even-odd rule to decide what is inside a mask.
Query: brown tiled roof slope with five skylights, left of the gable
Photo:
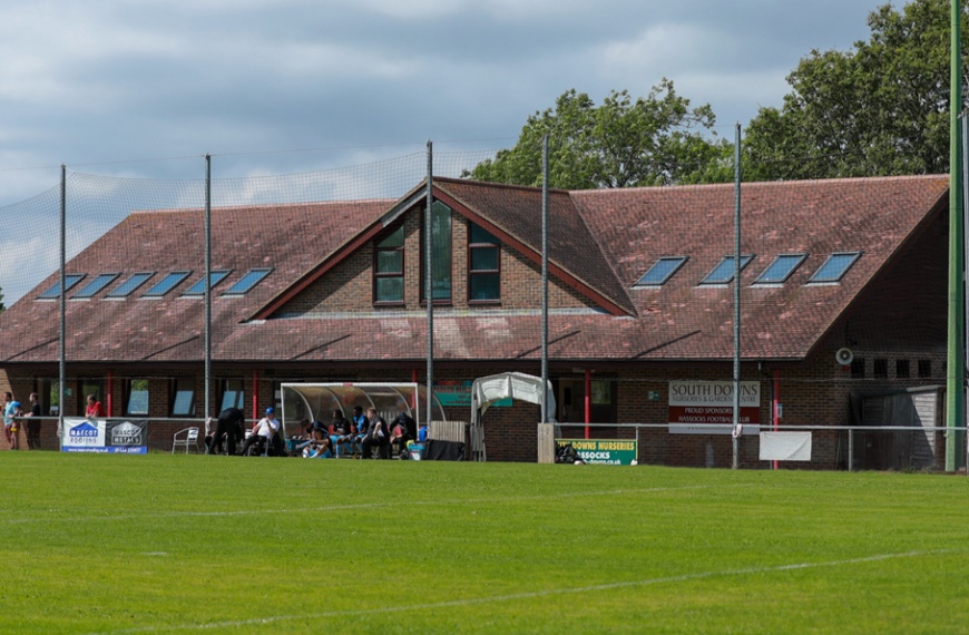
[[[393,201],[365,201],[212,211],[212,268],[233,270],[215,290],[228,289],[251,268],[273,272],[246,295],[213,302],[214,331],[224,334],[311,272],[321,258],[352,240]],[[180,294],[205,271],[202,211],[136,212],[72,258],[68,273],[88,279],[101,272],[158,273],[133,297],[123,301],[68,300],[68,358],[90,361],[203,359],[204,303]],[[136,257],[135,262],[130,262]],[[192,270],[175,292],[159,300],[140,299],[167,272]],[[58,359],[59,303],[37,301],[53,285],[51,274],[0,315],[3,360]],[[79,285],[80,286],[80,285]],[[76,287],[76,289],[79,289]],[[71,296],[76,289],[68,292]],[[213,338],[216,340],[216,338]],[[215,349],[214,349],[215,351]]]

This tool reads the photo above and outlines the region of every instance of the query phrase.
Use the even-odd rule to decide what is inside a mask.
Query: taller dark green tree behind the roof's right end
[[[747,127],[744,177],[948,172],[949,21],[948,0],[884,4],[869,14],[868,41],[812,50],[787,76],[783,106]],[[965,6],[962,21],[966,33]]]

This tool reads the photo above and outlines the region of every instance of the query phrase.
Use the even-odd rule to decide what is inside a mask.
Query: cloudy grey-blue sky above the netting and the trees
[[[732,138],[878,0],[30,0],[0,8],[0,205],[86,173],[281,174],[513,145],[662,77]],[[313,150],[313,152],[303,152]],[[189,175],[188,172],[192,172]]]

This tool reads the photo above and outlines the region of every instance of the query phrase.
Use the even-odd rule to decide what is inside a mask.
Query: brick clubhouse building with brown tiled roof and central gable
[[[432,196],[434,391],[449,420],[468,421],[472,380],[540,374],[541,192],[434,178]],[[157,420],[151,444],[167,449],[224,406],[255,417],[285,382],[424,383],[425,203],[417,184],[399,199],[213,208],[209,413],[204,211],[133,212],[67,263],[63,414],[82,416],[94,393],[109,417]],[[733,377],[734,212],[733,185],[550,193],[549,379],[564,434],[590,423],[591,437],[637,438],[639,462],[730,465],[730,426],[687,393]],[[942,465],[941,436],[921,429],[942,418],[948,177],[744,184],[741,217],[745,421],[813,428],[810,461],[790,467],[843,469],[850,448],[833,428],[898,422],[908,408],[918,434],[859,436],[854,466]],[[0,388],[21,402],[38,392],[45,414],[59,281],[0,314]],[[530,403],[491,408],[488,459],[535,461],[539,418]],[[45,448],[53,434],[47,421]],[[756,434],[740,460],[770,466]]]

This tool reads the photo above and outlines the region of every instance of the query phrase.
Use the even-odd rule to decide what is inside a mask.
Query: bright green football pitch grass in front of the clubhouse
[[[3,452],[2,633],[959,633],[969,480]]]

